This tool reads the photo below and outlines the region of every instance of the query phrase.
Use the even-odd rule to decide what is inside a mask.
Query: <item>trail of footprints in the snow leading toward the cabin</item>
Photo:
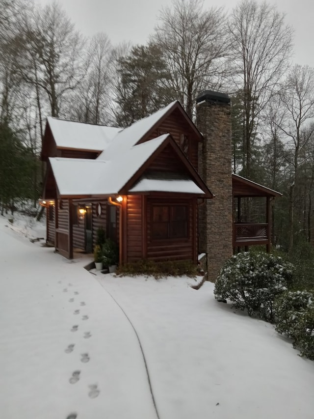
[[[62,284],[62,281],[59,280],[58,281],[58,284]],[[73,285],[71,283],[68,283],[67,286],[68,287],[72,287]],[[69,289],[68,288],[63,288],[63,292],[64,293],[69,292]],[[79,295],[79,292],[78,291],[74,291],[74,295]],[[69,303],[74,303],[75,302],[75,298],[73,298],[73,297],[69,298],[68,302]],[[84,306],[86,306],[86,303],[84,301],[81,301],[79,303],[79,306],[80,307],[84,307]],[[80,314],[80,309],[78,309],[78,308],[75,309],[73,311],[73,314],[76,315],[76,316],[78,314]],[[81,320],[88,320],[88,319],[89,319],[89,316],[87,314],[83,314],[81,316]],[[79,329],[79,325],[77,325],[77,324],[76,325],[73,325],[72,328],[70,329],[70,332],[73,332],[73,333],[74,332],[78,332],[78,329]],[[89,339],[91,336],[92,336],[92,334],[90,332],[84,332],[83,333],[83,338],[84,339]],[[64,352],[66,354],[71,354],[74,351],[75,351],[75,343],[70,343],[65,348],[65,350],[64,350]],[[84,352],[84,353],[80,354],[80,362],[81,363],[88,363],[89,361],[90,361],[90,356],[89,356],[88,352]],[[81,371],[79,369],[73,371],[71,377],[69,378],[69,383],[70,384],[76,384],[80,380],[80,374],[81,374]],[[88,386],[88,389],[89,389],[89,391],[88,391],[88,397],[90,397],[92,399],[98,397],[98,395],[100,393],[100,390],[99,390],[97,384],[90,384]],[[77,416],[78,416],[77,413],[71,413],[70,415],[67,416],[66,419],[76,419]]]

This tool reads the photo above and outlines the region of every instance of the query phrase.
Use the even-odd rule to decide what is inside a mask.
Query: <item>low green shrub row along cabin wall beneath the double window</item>
[[[180,277],[186,275],[195,277],[197,274],[197,266],[190,260],[166,260],[155,262],[154,260],[142,259],[136,262],[129,262],[121,265],[117,270],[117,275],[135,276],[147,275],[154,278]]]

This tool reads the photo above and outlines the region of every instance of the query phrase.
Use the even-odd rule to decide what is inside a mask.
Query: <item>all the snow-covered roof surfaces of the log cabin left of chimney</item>
[[[169,137],[163,134],[137,144],[171,111],[178,101],[143,118],[130,127],[112,128],[48,118],[57,147],[80,148],[103,152],[96,160],[49,158],[61,196],[111,195],[130,192],[180,192],[197,195],[206,193],[191,178],[141,179],[130,185],[132,176]],[[191,176],[193,178],[193,175]],[[128,183],[130,182],[130,183]]]

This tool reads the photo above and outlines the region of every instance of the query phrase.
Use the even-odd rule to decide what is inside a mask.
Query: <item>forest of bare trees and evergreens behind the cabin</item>
[[[117,23],[118,25],[118,23]],[[267,2],[228,13],[173,0],[143,45],[76,30],[59,3],[0,0],[0,205],[34,205],[46,117],[128,126],[178,99],[195,118],[203,90],[232,104],[232,168],[280,191],[273,245],[314,260],[314,69],[292,63],[294,30]],[[247,222],[262,206],[244,202]]]

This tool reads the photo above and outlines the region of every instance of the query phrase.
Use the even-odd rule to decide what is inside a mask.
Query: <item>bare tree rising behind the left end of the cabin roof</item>
[[[85,76],[85,41],[55,2],[26,16],[20,31],[19,70],[46,94],[52,116],[59,116],[62,99]]]

